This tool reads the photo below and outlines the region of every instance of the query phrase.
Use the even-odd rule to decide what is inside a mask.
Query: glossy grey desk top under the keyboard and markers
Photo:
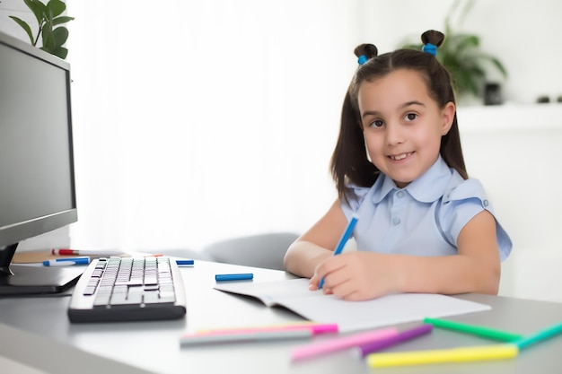
[[[328,374],[374,371],[348,351],[292,363],[289,353],[294,347],[308,343],[302,340],[180,348],[180,335],[198,329],[270,325],[303,320],[288,310],[267,308],[257,300],[213,289],[215,274],[239,272],[252,272],[254,282],[277,281],[291,277],[276,270],[197,261],[194,267],[181,268],[187,289],[188,314],[178,321],[76,325],[70,324],[66,317],[68,297],[0,299],[0,324],[4,324],[0,325],[0,334],[5,334],[0,336],[0,358],[4,355],[8,359],[16,359],[32,366],[37,363],[31,357],[38,358],[42,362],[40,369],[48,372],[99,372],[101,368],[112,370],[108,372],[125,372],[124,368],[127,368],[127,372],[147,370],[162,373]],[[492,309],[448,319],[520,334],[531,334],[562,321],[562,303],[478,294],[458,297],[486,303],[491,305]],[[399,327],[407,328],[418,324],[403,324]],[[320,341],[326,338],[317,336],[313,339]],[[476,336],[435,329],[431,335],[400,344],[388,352],[489,343]],[[560,352],[562,336],[531,346],[521,352],[515,360],[510,361],[384,370],[392,374],[554,373],[559,372],[562,365]],[[76,357],[76,360],[73,361],[73,357]]]

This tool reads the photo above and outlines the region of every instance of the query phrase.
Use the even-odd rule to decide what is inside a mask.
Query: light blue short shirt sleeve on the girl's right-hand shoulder
[[[443,196],[443,207],[440,212],[440,224],[443,234],[453,245],[462,228],[478,213],[487,210],[496,220],[496,239],[500,259],[505,260],[511,253],[513,244],[507,232],[496,219],[492,204],[487,199],[484,187],[478,179],[468,179],[457,187],[453,187]]]

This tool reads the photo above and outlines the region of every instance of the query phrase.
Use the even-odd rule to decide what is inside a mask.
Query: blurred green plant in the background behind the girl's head
[[[445,66],[452,76],[452,85],[457,96],[460,98],[468,95],[481,97],[484,93],[484,86],[490,67],[495,68],[505,79],[507,71],[505,66],[497,57],[487,54],[480,50],[480,39],[478,35],[457,32],[452,28],[452,18],[460,13],[457,26],[461,26],[462,21],[472,7],[473,1],[455,1],[444,22],[445,39],[437,51],[437,59]],[[421,50],[422,45],[405,44],[402,48],[415,48]]]

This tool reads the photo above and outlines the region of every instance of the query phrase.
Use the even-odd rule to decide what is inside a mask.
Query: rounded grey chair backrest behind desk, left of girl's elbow
[[[226,239],[203,248],[203,253],[217,262],[285,270],[285,252],[298,237],[293,232],[271,232]]]

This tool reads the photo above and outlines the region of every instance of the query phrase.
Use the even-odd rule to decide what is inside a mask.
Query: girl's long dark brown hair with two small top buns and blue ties
[[[422,34],[425,45],[439,47],[443,33],[429,30]],[[373,82],[398,69],[416,71],[426,81],[429,96],[443,109],[448,102],[455,103],[451,77],[447,70],[431,53],[413,49],[397,49],[394,52],[377,56],[377,48],[372,44],[362,44],[355,50],[363,65],[357,68],[344,99],[341,111],[338,142],[332,153],[330,170],[336,182],[338,197],[349,202],[356,196],[349,185],[371,187],[381,174],[367,159],[364,146],[363,126],[361,125],[357,95],[364,82]],[[449,167],[457,170],[462,178],[469,178],[464,165],[461,149],[461,136],[455,112],[450,131],[441,138],[441,156]]]

